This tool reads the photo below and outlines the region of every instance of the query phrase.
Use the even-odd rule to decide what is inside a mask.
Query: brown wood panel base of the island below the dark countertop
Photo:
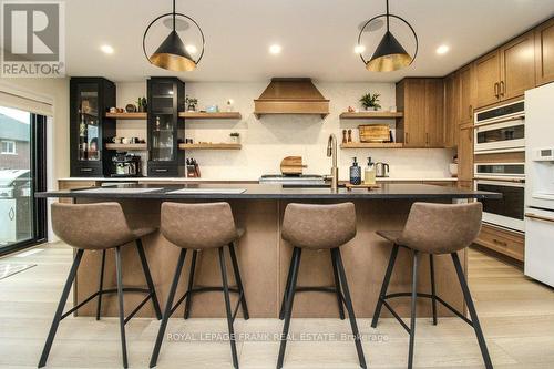
[[[80,202],[86,202],[80,199]],[[158,226],[160,201],[122,201],[127,222],[133,227]],[[280,222],[286,202],[279,201],[232,201],[235,221],[244,226],[246,233],[237,248],[240,273],[250,317],[275,318],[278,316],[280,300],[286,284],[291,248],[280,238]],[[379,295],[391,250],[390,243],[375,234],[377,229],[400,229],[407,218],[409,201],[357,201],[358,235],[341,248],[348,283],[356,314],[360,318],[371,317]],[[179,248],[155,233],[144,239],[145,252],[162,305],[166,301],[168,288],[175,270]],[[179,280],[176,299],[183,296],[188,281],[192,252],[188,252]],[[100,273],[100,252],[88,252],[83,256],[78,274],[75,300],[83,300],[98,289]],[[227,255],[229,284],[234,284],[233,269]],[[123,281],[125,286],[144,286],[144,277],[134,246],[122,248]],[[462,259],[465,256],[463,255]],[[462,294],[458,287],[455,273],[449,256],[439,256],[435,262],[439,294],[459,309],[463,308]],[[400,250],[389,291],[409,291],[411,280],[411,258],[407,250]],[[429,258],[421,262],[420,291],[430,291]],[[330,285],[332,270],[328,250],[302,253],[298,285]],[[220,285],[220,274],[216,250],[199,253],[195,284],[202,286]],[[114,252],[109,250],[104,275],[104,288],[115,285]],[[454,287],[453,287],[454,286]],[[138,294],[125,295],[125,312],[129,314],[144,298]],[[236,304],[236,296],[232,296]],[[409,299],[392,301],[402,316],[408,316]],[[95,300],[80,309],[81,316],[94,316]],[[184,305],[174,314],[182,317]],[[322,293],[299,293],[295,298],[295,317],[338,317],[335,295]],[[419,303],[418,315],[430,316],[430,301]],[[441,309],[441,316],[450,312]],[[102,316],[116,316],[116,297],[104,296]],[[142,317],[153,317],[152,304],[147,303],[138,312]],[[207,293],[195,295],[192,317],[224,317],[223,294]],[[238,316],[242,316],[239,310]],[[383,316],[389,316],[383,309]]]

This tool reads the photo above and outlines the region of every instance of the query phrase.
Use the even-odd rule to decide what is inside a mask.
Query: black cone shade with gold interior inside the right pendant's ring
[[[371,72],[392,72],[410,65],[412,57],[406,52],[397,38],[387,31],[366,69]]]

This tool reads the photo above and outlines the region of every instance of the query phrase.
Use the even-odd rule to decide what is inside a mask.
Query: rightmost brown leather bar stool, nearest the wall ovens
[[[462,265],[458,252],[469,247],[479,235],[481,229],[481,217],[483,206],[481,203],[470,204],[428,204],[414,203],[410,209],[408,221],[403,230],[379,230],[378,235],[393,243],[389,265],[384,274],[384,280],[379,294],[379,300],[373,314],[371,327],[376,328],[384,305],[387,309],[397,318],[402,327],[410,335],[410,347],[408,353],[408,368],[413,366],[413,346],[416,339],[416,299],[418,297],[430,298],[432,301],[433,325],[437,325],[437,301],[441,303],[449,310],[454,312],[462,320],[468,322],[475,330],[475,335],[481,348],[481,355],[486,368],[492,368],[491,357],[486,348],[486,342],[479,324],[475,306],[471,299],[470,289],[463,274]],[[399,293],[387,295],[387,288],[390,283],[394,262],[397,259],[399,247],[407,248],[413,255],[412,268],[412,290],[411,293]],[[431,268],[431,294],[421,294],[417,291],[418,286],[418,259],[419,254],[429,254]],[[468,305],[471,320],[463,314],[454,309],[451,305],[437,296],[434,286],[434,264],[433,255],[450,254],[454,264],[463,297]],[[387,301],[390,298],[411,296],[411,322],[408,327],[400,316],[392,309]]]

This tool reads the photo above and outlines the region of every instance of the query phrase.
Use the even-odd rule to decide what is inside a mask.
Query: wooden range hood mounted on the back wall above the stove
[[[329,100],[308,78],[274,78],[271,83],[254,100],[254,114],[310,114],[326,117]]]

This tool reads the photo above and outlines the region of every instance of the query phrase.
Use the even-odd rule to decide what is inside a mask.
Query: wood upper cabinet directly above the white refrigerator
[[[554,81],[554,19],[535,29],[536,84]]]

